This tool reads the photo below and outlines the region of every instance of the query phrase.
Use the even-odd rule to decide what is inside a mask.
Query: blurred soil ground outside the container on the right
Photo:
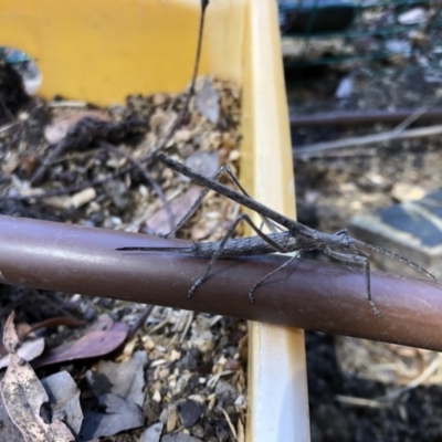
[[[292,114],[420,108],[438,101],[442,93],[442,84],[427,82],[422,71],[392,72],[377,78],[359,78],[350,97],[337,99],[333,91],[343,75],[324,69],[309,70],[304,77],[288,72]],[[424,124],[413,125],[418,126]],[[296,148],[307,144],[393,127],[379,122],[292,130],[301,222],[333,232],[345,228],[355,214],[407,198],[401,196],[401,189],[441,188],[440,137],[355,146],[308,159],[296,158]],[[306,345],[314,442],[442,440],[439,354],[318,333],[307,333]],[[434,371],[422,385],[407,388],[434,361]],[[382,400],[385,394],[402,388],[396,399]]]

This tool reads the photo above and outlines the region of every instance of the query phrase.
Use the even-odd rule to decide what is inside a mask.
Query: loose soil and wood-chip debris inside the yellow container
[[[197,94],[207,85],[208,81],[201,80]],[[191,101],[189,115],[166,150],[181,161],[197,151],[217,152],[219,165],[229,164],[238,171],[240,93],[220,81],[212,81],[211,88],[211,96],[219,96],[218,119],[211,115],[210,122],[196,110],[194,101]],[[101,147],[99,141],[115,144],[143,164],[173,125],[185,98],[186,94],[162,93],[149,97],[130,96],[125,106],[102,109],[97,118],[87,114],[97,110],[85,104],[33,99],[30,107],[21,108],[19,124],[0,134],[0,213],[146,231],[149,218],[161,209],[156,192],[141,173],[130,168],[127,157]],[[86,116],[66,125],[70,118],[75,120],[73,115],[77,113]],[[48,140],[48,124],[52,134],[65,130],[66,137],[57,144]],[[191,186],[160,165],[149,166],[148,171],[168,201],[179,200]],[[35,176],[36,179],[32,179]],[[238,208],[211,196],[180,235],[196,240],[219,239],[236,213]],[[168,225],[160,229],[167,231]],[[15,309],[17,320],[31,325],[60,315],[94,323],[98,315],[108,313],[115,320],[131,326],[145,308],[134,303],[78,294],[12,286],[0,286],[0,290],[2,322]],[[73,329],[59,325],[43,328],[39,334],[44,336],[48,348],[57,348],[80,338],[84,330],[84,327]],[[162,422],[162,440],[166,441],[167,438],[170,441],[186,438],[189,441],[233,441],[223,411],[234,425],[245,420],[245,400],[241,400],[239,409],[234,401],[245,394],[246,360],[244,351],[239,352],[239,339],[229,337],[241,338],[245,333],[244,322],[155,307],[134,338],[109,356],[116,364],[124,364],[137,351],[147,355],[143,377],[145,398],[140,406],[130,406],[138,407],[138,411],[133,410],[136,411],[133,418],[138,419],[141,427],[116,435],[110,431],[106,440],[135,441],[149,425]],[[96,429],[104,417],[108,419],[114,414],[115,418],[116,412],[127,411],[126,406],[120,407],[122,401],[127,400],[122,399],[120,393],[114,397],[109,394],[115,391],[110,391],[107,396],[101,394],[99,400],[92,394],[93,389],[85,378],[86,372],[97,370],[95,362],[94,359],[64,362],[36,371],[44,377],[64,369],[78,385],[91,423],[83,440],[86,434],[95,434],[94,427]],[[125,419],[117,418],[113,422],[118,423],[118,420]],[[123,430],[117,427],[115,431]]]

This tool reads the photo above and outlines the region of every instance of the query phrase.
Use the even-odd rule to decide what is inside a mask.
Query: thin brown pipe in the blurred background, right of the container
[[[341,110],[313,115],[291,115],[292,127],[311,126],[351,126],[357,124],[400,123],[413,115],[418,109],[398,110]],[[442,108],[428,109],[419,116],[419,122],[442,120]]]

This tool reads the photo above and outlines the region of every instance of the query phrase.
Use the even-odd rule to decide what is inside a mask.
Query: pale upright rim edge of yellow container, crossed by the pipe
[[[241,180],[256,200],[295,218],[276,1],[252,0],[245,29]],[[246,441],[309,441],[303,330],[249,323],[249,336]]]

